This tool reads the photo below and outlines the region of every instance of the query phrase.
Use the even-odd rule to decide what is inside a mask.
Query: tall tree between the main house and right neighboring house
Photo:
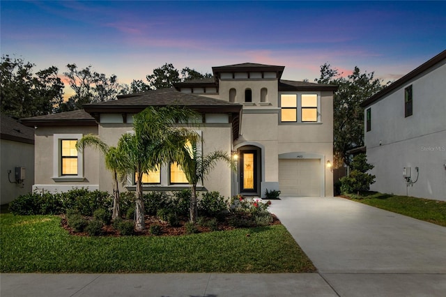
[[[362,101],[382,90],[385,85],[374,78],[374,73],[361,73],[355,67],[348,77],[330,64],[321,66],[321,77],[315,79],[320,84],[336,84],[339,86],[333,96],[333,137],[334,166],[349,165],[346,151],[364,145],[364,109]]]

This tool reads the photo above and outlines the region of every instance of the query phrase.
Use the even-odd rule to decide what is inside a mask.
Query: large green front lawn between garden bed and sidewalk
[[[0,215],[2,273],[307,273],[285,227],[187,236],[70,236],[54,215]],[[249,234],[249,236],[247,236]]]

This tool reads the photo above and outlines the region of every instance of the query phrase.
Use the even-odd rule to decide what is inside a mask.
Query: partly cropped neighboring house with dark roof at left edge
[[[0,154],[0,204],[7,204],[19,195],[31,192],[34,183],[34,129],[1,114]]]

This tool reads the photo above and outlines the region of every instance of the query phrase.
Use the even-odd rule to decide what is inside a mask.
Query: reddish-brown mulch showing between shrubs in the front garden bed
[[[226,218],[224,222],[218,222],[219,231],[236,229],[236,227],[229,225],[228,223],[229,218],[230,217]],[[88,219],[91,220],[91,218]],[[162,227],[161,236],[180,236],[187,234],[185,228],[185,223],[187,222],[186,220],[181,221],[177,227],[171,227],[167,222],[164,222],[156,217],[146,215],[145,222],[146,222],[146,229],[144,231],[135,231],[135,236],[153,236],[150,231],[150,227],[152,224],[158,224]],[[272,214],[272,223],[270,225],[275,225],[275,224],[282,224],[282,223],[280,222],[280,220],[277,218],[276,215]],[[73,230],[71,227],[69,227],[65,215],[61,215],[61,227],[63,227],[63,229],[66,229],[70,235],[89,236],[88,234],[86,234],[86,232],[77,232]],[[199,229],[200,233],[211,231],[210,228],[199,225],[197,225],[197,228]],[[118,237],[121,236],[121,234],[119,234],[119,231],[114,229],[112,225],[104,225],[102,227],[102,236]]]

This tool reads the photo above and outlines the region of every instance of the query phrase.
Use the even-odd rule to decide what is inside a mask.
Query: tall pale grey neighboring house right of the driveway
[[[362,107],[371,190],[446,201],[446,51]]]

